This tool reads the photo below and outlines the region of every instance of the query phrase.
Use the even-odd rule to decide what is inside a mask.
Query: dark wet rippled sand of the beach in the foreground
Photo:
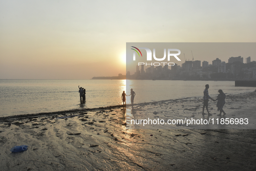
[[[256,93],[227,95],[224,110],[254,114],[255,100]],[[216,118],[216,102],[209,105]],[[0,118],[1,170],[255,170],[256,129],[126,129],[133,115],[201,118],[201,110],[201,99],[188,98]],[[10,152],[15,145],[29,147]]]

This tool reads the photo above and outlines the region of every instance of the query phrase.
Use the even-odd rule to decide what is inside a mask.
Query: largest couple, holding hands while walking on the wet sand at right
[[[218,100],[216,106],[218,107],[217,110],[220,111],[220,114],[218,114],[217,116],[221,116],[221,113],[223,113],[223,116],[226,115],[226,113],[225,113],[224,110],[223,110],[223,106],[224,106],[224,104],[226,103],[226,102],[225,102],[226,95],[223,93],[222,90],[218,90],[219,95],[217,96],[217,99],[214,100],[213,98],[211,98],[211,97],[209,96],[209,94],[208,94],[208,89],[209,89],[209,84],[206,84],[206,85],[205,85],[205,89],[204,89],[204,106],[203,106],[203,113],[202,113],[202,115],[206,115],[206,114],[204,113],[204,108],[206,108],[206,110],[207,110],[207,112],[208,112],[208,115],[211,116],[211,113],[209,113],[209,110],[208,110],[208,101],[209,101],[209,99],[211,99],[211,100],[213,100],[213,101]]]

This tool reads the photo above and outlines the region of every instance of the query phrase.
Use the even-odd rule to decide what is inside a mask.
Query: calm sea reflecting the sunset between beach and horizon
[[[0,116],[57,112],[98,108],[122,104],[121,94],[130,89],[136,93],[134,103],[153,102],[203,96],[204,85],[209,94],[217,90],[240,94],[255,87],[235,87],[234,81],[151,81],[151,80],[0,80]],[[86,101],[81,103],[78,85],[86,89]],[[127,96],[130,104],[130,96]]]

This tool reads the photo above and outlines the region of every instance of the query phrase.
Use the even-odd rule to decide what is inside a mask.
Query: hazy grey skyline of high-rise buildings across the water
[[[158,79],[158,80],[201,80],[201,79],[256,79],[256,61],[250,57],[230,57],[228,62],[216,58],[209,64],[208,61],[185,61],[180,65],[167,63],[160,65],[160,61],[145,67],[144,62],[136,65],[136,72],[127,71],[126,79]],[[155,65],[156,64],[156,65]],[[95,79],[95,78],[94,78]],[[96,78],[99,79],[99,78]],[[121,77],[119,76],[119,79]]]

